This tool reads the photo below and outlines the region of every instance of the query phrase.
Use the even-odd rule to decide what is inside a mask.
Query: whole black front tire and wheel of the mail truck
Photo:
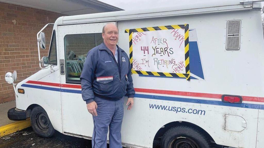
[[[36,106],[32,109],[30,121],[32,129],[38,136],[44,138],[53,136],[55,130],[49,120],[47,112],[41,106]]]

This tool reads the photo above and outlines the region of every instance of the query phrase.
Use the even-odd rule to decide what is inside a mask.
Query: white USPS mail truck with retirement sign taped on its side
[[[57,130],[91,139],[79,77],[87,52],[103,42],[103,26],[115,23],[136,91],[133,109],[124,112],[123,146],[160,140],[162,148],[264,148],[261,3],[240,1],[59,17],[48,57],[39,57],[41,70],[14,87],[16,108],[8,117],[30,117],[42,137]],[[6,80],[15,77],[9,72]]]

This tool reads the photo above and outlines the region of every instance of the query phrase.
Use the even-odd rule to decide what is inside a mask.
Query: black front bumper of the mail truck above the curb
[[[11,108],[7,112],[7,117],[13,121],[26,120],[30,117],[31,110],[18,110],[16,107]]]

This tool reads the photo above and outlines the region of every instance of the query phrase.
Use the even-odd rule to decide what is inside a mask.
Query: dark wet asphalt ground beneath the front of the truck
[[[41,138],[31,127],[0,138],[0,148],[92,148],[88,139],[63,135],[55,132],[51,138]],[[107,147],[109,145],[107,144]],[[159,148],[159,146],[155,146]]]

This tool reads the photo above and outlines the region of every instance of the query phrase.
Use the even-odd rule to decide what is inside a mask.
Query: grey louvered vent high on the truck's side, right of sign
[[[227,21],[226,50],[240,49],[241,20]]]

